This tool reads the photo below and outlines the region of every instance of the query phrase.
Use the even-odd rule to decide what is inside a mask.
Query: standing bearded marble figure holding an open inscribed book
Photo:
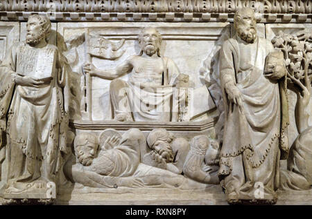
[[[26,41],[12,46],[0,66],[7,193],[55,182],[60,153],[67,153],[68,73],[58,48],[47,43],[50,32],[47,17],[29,17]]]

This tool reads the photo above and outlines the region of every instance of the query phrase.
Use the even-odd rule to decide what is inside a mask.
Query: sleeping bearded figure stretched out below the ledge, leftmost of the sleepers
[[[75,155],[64,166],[72,182],[87,187],[186,187],[187,178],[165,169],[141,163],[141,151],[146,148],[144,133],[130,128],[119,141],[116,135],[107,138],[111,149],[98,146],[92,133],[80,133],[75,139]]]

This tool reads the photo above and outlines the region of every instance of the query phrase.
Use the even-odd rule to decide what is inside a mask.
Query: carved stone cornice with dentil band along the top
[[[39,13],[51,21],[233,21],[243,7],[254,8],[261,23],[312,21],[312,0],[0,0],[0,20]]]

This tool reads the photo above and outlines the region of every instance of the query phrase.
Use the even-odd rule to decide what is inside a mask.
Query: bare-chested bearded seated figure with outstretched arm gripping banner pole
[[[84,69],[91,76],[114,79],[110,99],[114,120],[171,121],[172,85],[180,73],[175,63],[160,55],[162,35],[145,28],[139,37],[141,53],[128,57],[113,70],[100,70],[92,64]],[[128,74],[128,82],[116,79]]]

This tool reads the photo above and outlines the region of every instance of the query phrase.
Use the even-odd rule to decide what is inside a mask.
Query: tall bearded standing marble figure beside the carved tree
[[[251,8],[236,12],[234,28],[236,35],[220,50],[226,120],[218,175],[228,202],[274,203],[279,160],[288,153],[286,90],[278,81],[283,75],[269,79],[264,74],[266,57],[274,48],[257,37]],[[275,71],[274,66],[268,69]]]

